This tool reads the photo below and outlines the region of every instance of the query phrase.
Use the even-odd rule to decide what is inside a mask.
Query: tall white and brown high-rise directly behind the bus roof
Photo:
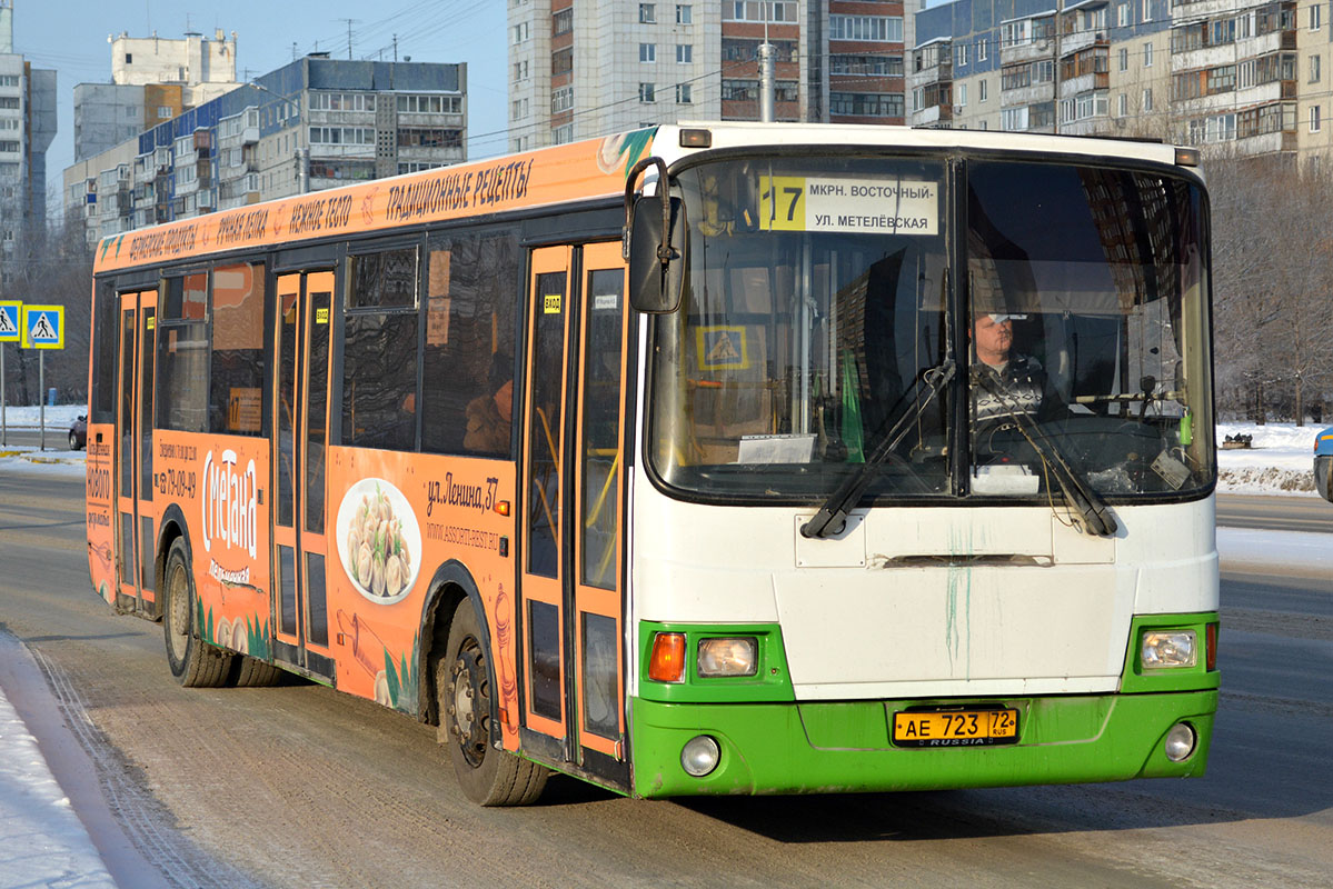
[[[509,148],[680,120],[901,124],[901,0],[509,0]]]

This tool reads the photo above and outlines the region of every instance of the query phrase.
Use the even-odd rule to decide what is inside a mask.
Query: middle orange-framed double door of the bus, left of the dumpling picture
[[[273,657],[333,678],[324,585],[333,272],[277,276],[273,361]]]

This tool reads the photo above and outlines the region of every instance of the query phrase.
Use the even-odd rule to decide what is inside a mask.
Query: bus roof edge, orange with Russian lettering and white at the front
[[[706,147],[682,148],[682,131],[706,131]],[[697,141],[697,140],[696,140]],[[966,129],[838,124],[681,123],[379,179],[196,216],[103,239],[95,272],[265,248],[293,239],[389,231],[404,225],[615,197],[640,159],[668,164],[698,151],[765,145],[866,145],[937,151],[1010,151],[1176,164],[1177,149],[1146,141]],[[651,181],[655,179],[648,176]]]

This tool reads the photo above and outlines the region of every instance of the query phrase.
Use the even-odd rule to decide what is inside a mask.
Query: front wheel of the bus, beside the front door
[[[469,800],[485,806],[528,805],[541,796],[551,773],[492,744],[489,660],[476,609],[464,598],[453,613],[445,654],[435,665],[439,737]]]

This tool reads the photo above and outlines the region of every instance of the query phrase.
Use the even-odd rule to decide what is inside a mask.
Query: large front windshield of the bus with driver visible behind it
[[[668,486],[800,502],[858,473],[872,500],[1046,502],[1056,461],[1106,500],[1210,485],[1188,179],[848,155],[676,181],[689,271],[656,324],[649,448]]]

